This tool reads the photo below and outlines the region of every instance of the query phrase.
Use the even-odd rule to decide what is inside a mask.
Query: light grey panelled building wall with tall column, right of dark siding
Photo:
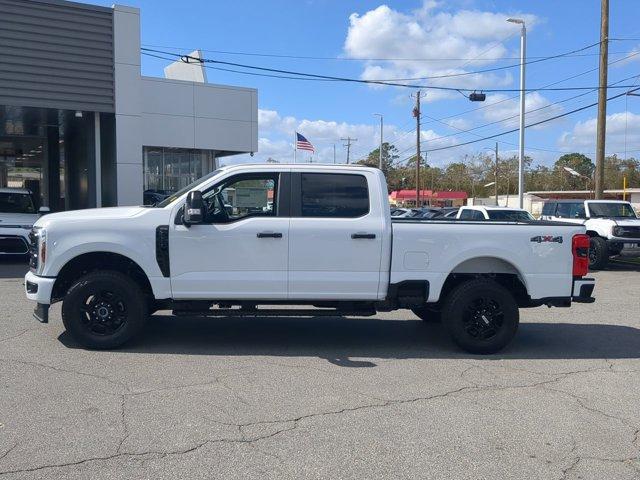
[[[258,150],[257,90],[142,77],[140,10],[113,8],[118,205],[142,203],[143,146]]]

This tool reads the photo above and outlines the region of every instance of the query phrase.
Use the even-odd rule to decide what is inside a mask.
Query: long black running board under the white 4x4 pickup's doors
[[[297,309],[297,308],[214,308],[210,310],[173,310],[178,317],[372,317],[377,312],[368,310]]]

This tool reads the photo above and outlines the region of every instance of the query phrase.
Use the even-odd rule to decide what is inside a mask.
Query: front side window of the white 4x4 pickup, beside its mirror
[[[204,195],[207,221],[225,223],[246,217],[277,215],[278,175],[240,175],[216,185]]]

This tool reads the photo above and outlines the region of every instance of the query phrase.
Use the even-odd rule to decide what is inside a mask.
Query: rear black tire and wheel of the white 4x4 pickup
[[[493,280],[478,278],[455,287],[444,301],[442,321],[453,341],[470,353],[496,353],[518,330],[515,298]]]

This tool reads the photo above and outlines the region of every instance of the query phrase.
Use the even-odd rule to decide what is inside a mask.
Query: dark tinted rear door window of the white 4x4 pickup
[[[303,217],[355,218],[369,213],[369,189],[363,175],[303,173]]]

